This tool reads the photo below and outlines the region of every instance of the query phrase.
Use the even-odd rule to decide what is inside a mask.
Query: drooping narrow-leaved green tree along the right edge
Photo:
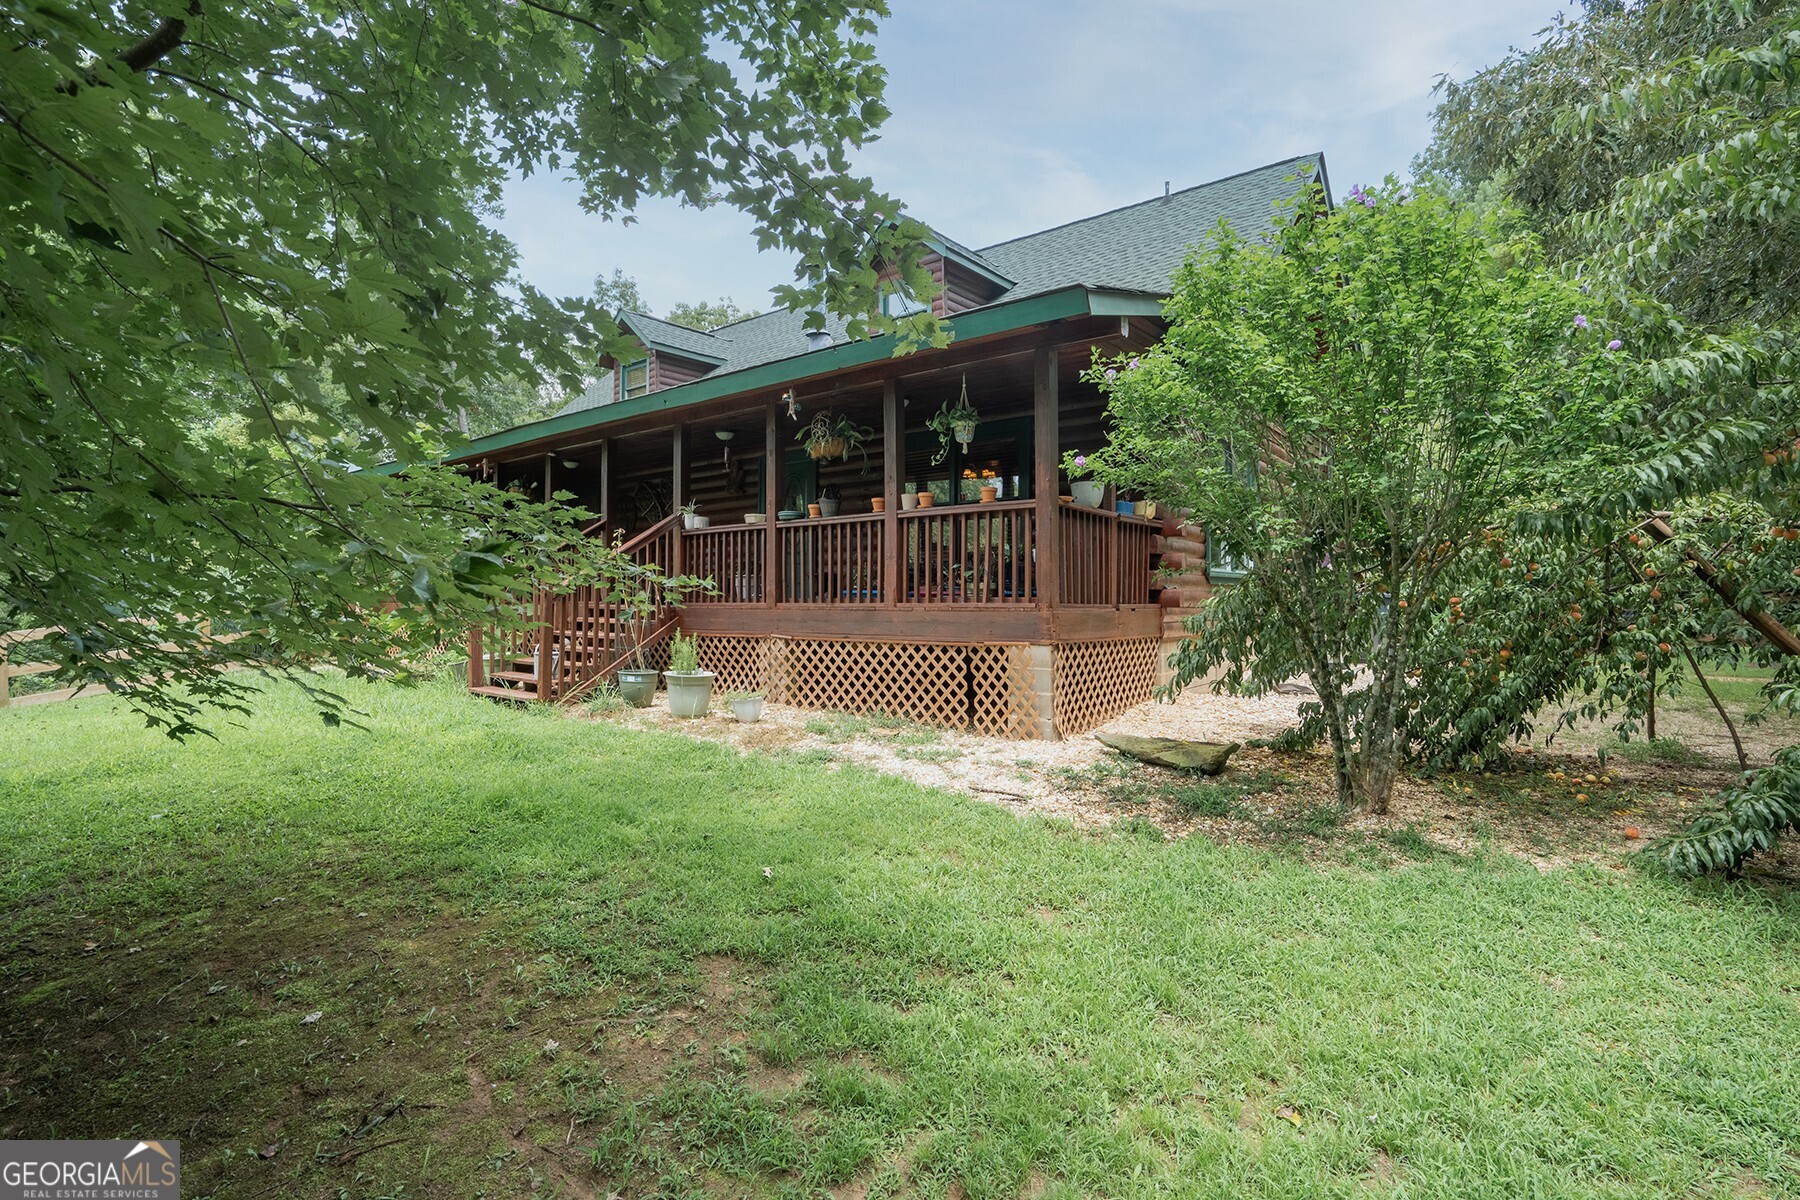
[[[1681,570],[1705,578],[1701,606],[1721,615],[1697,622],[1710,639],[1656,624],[1658,646],[1775,660],[1768,698],[1787,711],[1800,711],[1786,633],[1800,604],[1791,542],[1771,531],[1800,524],[1796,97],[1800,5],[1589,5],[1451,85],[1424,160],[1525,205],[1629,329],[1643,403],[1615,430],[1620,468],[1573,491],[1546,531],[1634,531],[1672,513]],[[1726,793],[1717,819],[1663,844],[1667,862],[1735,871],[1800,824],[1789,777]]]

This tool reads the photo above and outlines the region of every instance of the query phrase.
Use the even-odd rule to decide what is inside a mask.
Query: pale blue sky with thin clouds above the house
[[[1404,175],[1431,88],[1526,45],[1548,0],[893,0],[882,27],[893,117],[862,169],[950,237],[985,246],[1325,151],[1332,189]],[[792,263],[758,254],[731,210],[646,203],[637,225],[581,212],[535,175],[500,228],[524,277],[587,293],[623,268],[655,311],[731,297],[767,308]]]

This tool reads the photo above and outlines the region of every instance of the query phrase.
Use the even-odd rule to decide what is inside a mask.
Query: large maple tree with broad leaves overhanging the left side
[[[182,696],[245,694],[207,624],[369,671],[529,587],[565,522],[367,470],[437,461],[497,381],[578,385],[614,333],[518,281],[502,182],[734,205],[799,257],[783,304],[895,327],[873,263],[929,290],[923,230],[850,171],[882,14],[0,0],[0,615],[65,626],[77,680],[130,649],[187,727]]]

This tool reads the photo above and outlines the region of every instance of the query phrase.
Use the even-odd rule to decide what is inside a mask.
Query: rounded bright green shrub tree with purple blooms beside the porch
[[[1391,182],[1318,203],[1271,245],[1222,227],[1175,273],[1163,342],[1096,365],[1112,439],[1071,466],[1255,563],[1190,621],[1174,685],[1305,675],[1341,801],[1384,811],[1444,579],[1595,446],[1618,369],[1579,291],[1490,216]]]

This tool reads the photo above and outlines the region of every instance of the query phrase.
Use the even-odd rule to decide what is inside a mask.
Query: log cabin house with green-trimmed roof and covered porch
[[[659,615],[653,662],[679,628],[722,689],[1010,738],[1084,732],[1150,698],[1222,570],[1177,518],[1120,511],[1111,493],[1069,502],[1064,453],[1107,435],[1082,372],[1096,353],[1152,345],[1183,257],[1220,218],[1267,230],[1301,175],[1323,184],[1323,155],[981,250],[938,237],[945,349],[896,358],[887,336],[846,340],[842,322],[808,336],[788,311],[709,331],[623,313],[637,358],[459,462],[572,493],[603,515],[594,534],[713,579]],[[945,443],[927,421],[965,394],[979,425]],[[821,412],[868,441],[814,459],[796,435]],[[823,497],[837,515],[805,516]],[[684,527],[684,506],[706,527]],[[473,691],[571,700],[625,666],[617,613],[596,596],[542,594],[531,615],[524,633],[470,635]]]

